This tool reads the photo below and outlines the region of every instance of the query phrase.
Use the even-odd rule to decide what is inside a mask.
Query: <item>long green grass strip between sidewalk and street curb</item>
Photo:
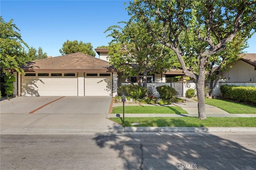
[[[120,117],[109,119],[124,127],[256,127],[256,117],[125,117],[124,124]],[[131,125],[134,122],[140,125]]]

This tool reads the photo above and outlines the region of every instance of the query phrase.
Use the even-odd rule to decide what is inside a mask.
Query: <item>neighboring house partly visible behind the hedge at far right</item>
[[[214,88],[212,96],[220,96],[220,86],[256,86],[256,53],[241,54],[242,58],[222,73],[222,79]]]

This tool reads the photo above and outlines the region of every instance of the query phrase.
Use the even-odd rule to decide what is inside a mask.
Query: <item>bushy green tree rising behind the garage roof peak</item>
[[[71,54],[71,53],[84,53],[87,55],[90,55],[92,57],[95,57],[96,53],[93,51],[93,47],[91,43],[83,43],[80,41],[78,43],[77,40],[69,41],[63,43],[62,49],[60,49],[61,55],[65,54]]]

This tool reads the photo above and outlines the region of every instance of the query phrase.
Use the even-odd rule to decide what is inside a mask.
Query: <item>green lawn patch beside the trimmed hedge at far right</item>
[[[220,109],[232,114],[256,114],[256,106],[249,106],[246,104],[219,99],[206,99],[205,103],[219,107]]]

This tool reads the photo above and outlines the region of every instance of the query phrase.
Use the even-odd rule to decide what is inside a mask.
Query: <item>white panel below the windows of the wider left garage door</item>
[[[22,96],[77,96],[77,78],[23,78]]]

